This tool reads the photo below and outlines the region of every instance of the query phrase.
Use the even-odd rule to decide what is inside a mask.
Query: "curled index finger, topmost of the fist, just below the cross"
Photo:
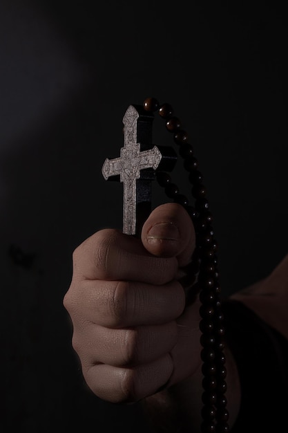
[[[177,273],[177,259],[153,257],[140,239],[117,230],[99,230],[73,252],[75,279],[126,279],[165,284]]]

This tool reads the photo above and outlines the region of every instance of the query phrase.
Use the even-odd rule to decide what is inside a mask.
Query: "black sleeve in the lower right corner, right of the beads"
[[[231,433],[282,431],[288,411],[288,340],[241,302],[223,302],[223,313],[242,392]]]

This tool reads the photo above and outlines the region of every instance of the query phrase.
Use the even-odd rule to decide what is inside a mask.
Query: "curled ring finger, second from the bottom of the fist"
[[[73,349],[84,367],[97,363],[114,367],[141,365],[162,358],[177,342],[175,321],[157,326],[137,326],[109,329],[88,324],[77,327],[73,335]]]

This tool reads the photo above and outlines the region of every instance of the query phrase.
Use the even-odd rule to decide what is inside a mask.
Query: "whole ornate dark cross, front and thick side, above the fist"
[[[175,164],[172,148],[152,147],[152,120],[153,113],[130,105],[123,118],[124,147],[120,156],[106,158],[102,166],[105,180],[119,179],[123,183],[123,232],[126,234],[139,233],[140,224],[151,211],[151,181],[157,167],[163,160],[170,163],[167,169],[171,170]]]

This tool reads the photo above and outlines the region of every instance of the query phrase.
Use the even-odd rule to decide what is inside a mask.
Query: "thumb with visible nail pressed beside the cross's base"
[[[159,257],[177,257],[179,266],[189,264],[195,249],[191,217],[178,203],[155,208],[142,227],[141,239],[148,252]]]

